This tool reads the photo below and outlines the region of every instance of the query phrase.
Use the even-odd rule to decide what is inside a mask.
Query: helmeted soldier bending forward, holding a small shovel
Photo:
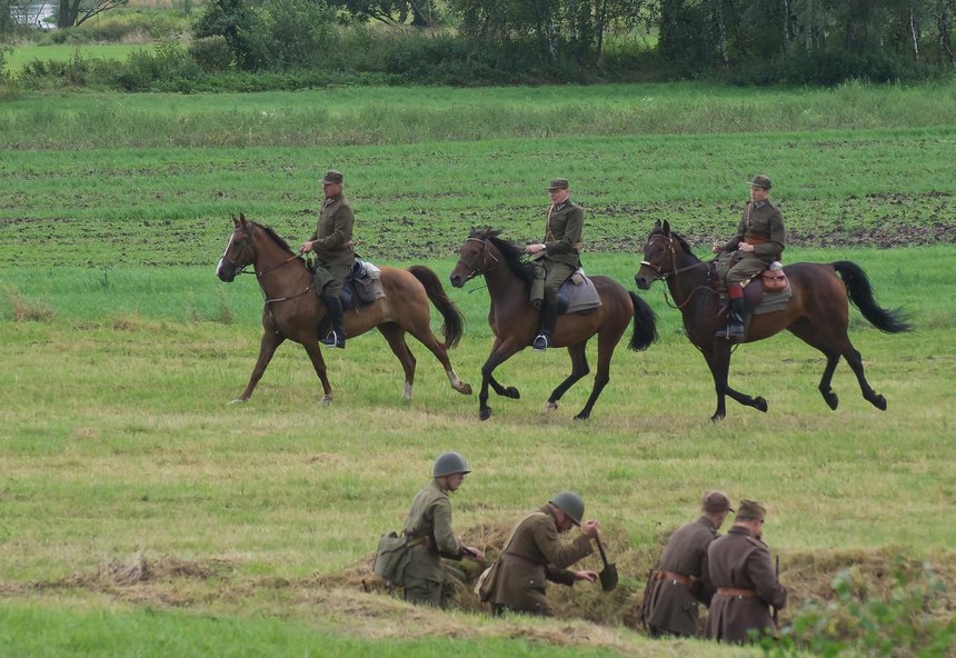
[[[518,522],[498,558],[499,568],[489,599],[496,614],[512,610],[550,616],[546,580],[570,587],[576,580],[594,582],[597,579],[595,571],[568,569],[592,552],[591,539],[599,536],[597,521],[581,525],[584,514],[580,496],[561,491],[548,505]],[[562,541],[558,535],[574,526],[580,526],[580,535],[572,541]]]

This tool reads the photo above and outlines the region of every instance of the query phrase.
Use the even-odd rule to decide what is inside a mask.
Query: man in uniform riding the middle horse
[[[585,211],[570,200],[566,179],[551,180],[548,195],[551,206],[548,208],[545,241],[525,248],[525,253],[531,255],[539,263],[538,280],[531,290],[531,306],[541,310],[541,329],[534,342],[536,351],[544,351],[551,345],[558,322],[558,290],[580,267],[581,231],[585,228]]]

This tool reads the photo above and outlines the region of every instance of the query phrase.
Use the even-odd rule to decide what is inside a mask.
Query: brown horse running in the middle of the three
[[[451,285],[461,288],[466,281],[484,275],[491,296],[488,323],[495,332],[491,353],[481,367],[481,392],[478,396],[478,413],[481,420],[491,416],[488,407],[488,385],[499,396],[518,399],[518,389],[504,387],[495,380],[492,372],[501,362],[531,345],[540,323],[540,312],[529,302],[529,286],[534,280],[530,263],[521,261],[521,250],[498,237],[500,231],[472,229],[458,252],[458,263],[451,272]],[[610,380],[610,357],[634,318],[634,336],[630,349],[644,350],[657,339],[654,311],[643,299],[628,292],[607,277],[591,277],[600,296],[601,306],[584,313],[568,313],[558,318],[554,347],[567,347],[571,357],[571,373],[551,391],[547,411],[558,408],[558,400],[588,373],[585,346],[591,336],[598,337],[598,369],[595,387],[584,409],[575,416],[588,418],[604,387]]]

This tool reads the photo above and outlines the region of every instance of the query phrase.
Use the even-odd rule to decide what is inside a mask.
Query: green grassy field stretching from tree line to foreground
[[[896,559],[932,565],[952,591],[953,94],[674,84],[0,101],[0,654],[737,656],[635,625],[648,568],[708,488],[767,505],[785,622],[831,596],[843,569],[859,592],[886,592]],[[666,111],[651,121],[644,98]],[[591,376],[541,411],[569,371],[561,350],[502,365],[521,399],[492,396],[481,422],[477,396],[451,390],[414,340],[402,401],[401,368],[375,332],[326,352],[331,405],[296,345],[230,405],[262,298],[253,277],[215,277],[229,217],[298,245],[329,167],[346,173],[362,256],[421,262],[446,282],[474,226],[539,240],[546,182],[566,176],[587,209],[586,269],[631,290],[655,220],[704,257],[733,232],[747,178],[767,172],[787,262],[853,260],[884,307],[909,313],[916,330],[889,336],[852,311],[888,409],[840,363],[830,411],[823,356],[785,333],[731,362],[731,383],[769,411],[729,402],[713,423],[709,372],[660,283],[639,293],[659,341],[619,346],[587,422],[572,416]],[[446,289],[467,318],[451,360],[477,389],[488,292],[480,280]],[[389,597],[369,571],[377,539],[447,449],[474,468],[454,497],[469,542],[499,548],[524,511],[572,488],[601,522],[618,590],[554,587],[556,620],[487,617],[469,592],[451,611]],[[933,614],[952,620],[948,601]]]

